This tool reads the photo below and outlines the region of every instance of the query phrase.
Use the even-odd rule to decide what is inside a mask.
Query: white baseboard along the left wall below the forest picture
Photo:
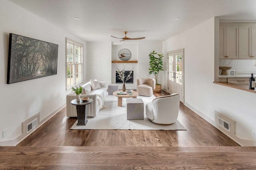
[[[58,109],[56,109],[55,111],[50,113],[48,116],[44,117],[41,121],[39,119],[38,126],[30,133],[23,133],[20,136],[16,137],[15,139],[11,139],[8,141],[0,141],[0,146],[16,146],[16,145],[18,145],[18,143],[20,143],[22,140],[24,140],[26,137],[28,137],[28,135],[33,133],[36,129],[38,129],[38,127],[40,127],[42,124],[44,124],[46,121],[48,121],[52,116],[54,116],[56,113],[58,113],[65,106],[66,106],[66,103],[63,104],[62,106],[58,107]]]

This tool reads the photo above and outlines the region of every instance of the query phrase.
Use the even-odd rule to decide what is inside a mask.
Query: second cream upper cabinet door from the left
[[[226,27],[226,58],[238,59],[238,26]]]

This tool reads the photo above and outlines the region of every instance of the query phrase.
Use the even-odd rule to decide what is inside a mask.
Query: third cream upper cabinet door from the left
[[[239,59],[251,58],[251,26],[239,27]]]

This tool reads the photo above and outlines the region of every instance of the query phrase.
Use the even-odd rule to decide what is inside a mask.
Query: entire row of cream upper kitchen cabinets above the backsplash
[[[256,24],[226,24],[219,29],[219,59],[256,60]]]

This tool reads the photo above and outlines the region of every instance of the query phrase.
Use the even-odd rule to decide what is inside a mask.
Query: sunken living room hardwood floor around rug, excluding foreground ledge
[[[155,96],[167,94],[164,91],[154,92]],[[186,131],[70,130],[76,118],[66,117],[65,107],[17,146],[240,146],[182,103],[178,120]]]

